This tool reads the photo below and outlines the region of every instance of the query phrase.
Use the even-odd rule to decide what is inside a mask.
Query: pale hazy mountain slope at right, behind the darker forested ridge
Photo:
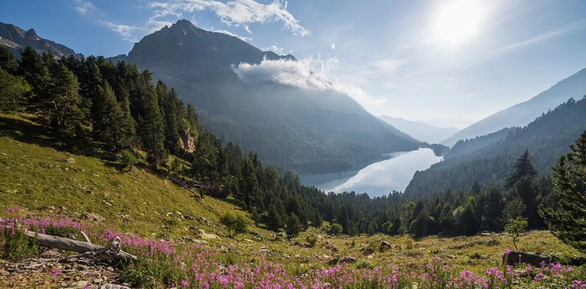
[[[446,146],[453,146],[458,140],[471,139],[476,136],[496,132],[511,126],[525,126],[541,113],[547,112],[567,101],[568,98],[580,99],[586,95],[586,68],[578,71],[548,90],[541,92],[528,101],[521,102],[488,116],[460,130],[453,136],[441,142]]]

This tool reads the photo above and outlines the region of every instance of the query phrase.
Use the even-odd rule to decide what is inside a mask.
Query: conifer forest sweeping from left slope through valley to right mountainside
[[[17,61],[1,49],[0,96],[1,111],[35,115],[64,150],[100,152],[129,166],[142,157],[159,176],[234,201],[254,222],[275,231],[296,235],[297,228],[328,221],[347,235],[473,235],[501,231],[507,221],[522,217],[529,228],[557,222],[558,235],[574,242],[564,235],[563,220],[553,220],[553,210],[567,207],[558,204],[554,184],[565,186],[556,194],[571,195],[574,179],[560,161],[552,181],[551,167],[568,152],[559,149],[564,147],[560,143],[572,143],[584,132],[586,99],[570,99],[525,128],[459,142],[447,154],[452,157],[416,173],[405,193],[371,198],[356,192],[324,194],[301,185],[292,171],[281,174],[263,166],[254,152],[243,152],[200,127],[193,105],[173,88],[124,61],[57,59],[30,47]],[[578,157],[571,160],[583,159],[585,139],[582,134],[574,150]],[[478,142],[490,144],[472,149]],[[579,188],[583,185],[578,182]]]

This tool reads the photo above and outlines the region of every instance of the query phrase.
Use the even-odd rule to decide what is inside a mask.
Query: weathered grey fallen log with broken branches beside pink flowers
[[[74,256],[70,256],[69,258],[98,257],[100,259],[110,260],[111,262],[128,262],[131,260],[137,260],[136,256],[128,254],[121,250],[121,242],[120,238],[118,237],[113,242],[110,242],[110,245],[103,247],[92,244],[90,242],[81,242],[57,236],[45,235],[30,230],[25,230],[25,233],[30,238],[35,238],[41,246],[81,253]],[[89,241],[89,239],[87,239],[87,236],[85,235],[86,234],[84,233],[84,239],[86,239],[86,241]]]

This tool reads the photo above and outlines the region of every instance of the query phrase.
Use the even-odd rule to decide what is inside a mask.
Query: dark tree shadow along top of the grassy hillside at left
[[[43,126],[23,119],[0,116],[0,137],[2,136],[8,136],[23,143],[50,147],[60,152],[97,157],[106,161],[116,160],[115,154],[105,152],[97,144],[80,139],[68,140],[66,142],[59,141],[50,134],[49,130],[43,128]]]

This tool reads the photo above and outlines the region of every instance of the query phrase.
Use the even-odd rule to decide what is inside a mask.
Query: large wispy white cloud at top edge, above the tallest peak
[[[299,21],[287,11],[287,2],[281,0],[275,0],[271,4],[260,4],[254,0],[233,0],[226,4],[214,0],[171,0],[151,2],[150,6],[155,9],[153,19],[167,15],[180,16],[182,12],[210,10],[227,25],[281,21],[294,35],[311,35],[311,32],[299,25]]]

